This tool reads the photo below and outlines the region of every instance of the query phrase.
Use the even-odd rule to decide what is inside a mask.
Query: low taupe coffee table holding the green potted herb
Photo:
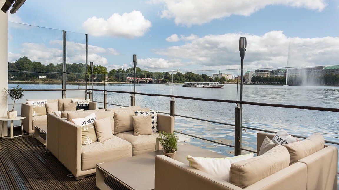
[[[111,189],[105,184],[104,174],[113,177],[128,189],[154,189],[155,156],[163,150],[144,153],[125,159],[97,164],[96,185],[99,189]],[[227,156],[189,144],[178,145],[175,160],[188,165],[187,155],[193,157],[226,158]]]

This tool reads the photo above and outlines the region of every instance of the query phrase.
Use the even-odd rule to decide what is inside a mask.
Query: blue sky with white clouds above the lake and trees
[[[85,63],[88,34],[88,63],[108,71],[133,67],[133,54],[143,70],[235,71],[242,36],[244,69],[339,65],[337,0],[27,0],[8,17],[10,62],[61,63],[66,30],[78,39],[67,41],[67,63]]]

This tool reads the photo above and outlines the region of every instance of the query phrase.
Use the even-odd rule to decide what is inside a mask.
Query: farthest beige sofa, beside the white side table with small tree
[[[47,99],[47,103],[58,103],[58,111],[64,111],[63,103],[71,103],[73,98],[59,98],[59,99]],[[75,98],[75,99],[84,99],[84,98]],[[27,100],[36,100],[36,99],[27,99]],[[96,102],[89,102],[89,110],[96,109]],[[48,112],[47,112],[48,114]],[[47,125],[47,114],[33,116],[33,105],[27,103],[21,104],[21,116],[26,117],[22,120],[22,127],[25,132],[29,135],[34,133],[35,125]]]

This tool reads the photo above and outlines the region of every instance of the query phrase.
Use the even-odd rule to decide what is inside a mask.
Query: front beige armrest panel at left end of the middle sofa
[[[59,161],[75,176],[81,170],[81,129],[67,120],[59,122]]]

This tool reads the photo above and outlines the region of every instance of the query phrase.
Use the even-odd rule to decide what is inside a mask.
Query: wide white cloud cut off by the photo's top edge
[[[231,15],[250,16],[267,5],[285,5],[322,11],[324,0],[153,0],[164,3],[161,18],[174,18],[177,25],[201,25]]]

